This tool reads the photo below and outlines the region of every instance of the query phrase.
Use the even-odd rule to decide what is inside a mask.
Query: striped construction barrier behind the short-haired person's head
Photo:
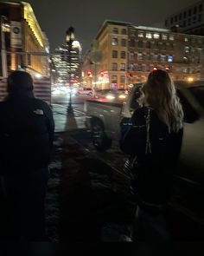
[[[0,79],[0,101],[7,96],[7,81]],[[35,98],[51,104],[51,80],[50,78],[34,79]]]

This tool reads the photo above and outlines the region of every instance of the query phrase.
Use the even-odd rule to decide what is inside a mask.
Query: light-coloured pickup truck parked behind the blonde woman
[[[121,103],[86,100],[86,125],[92,131],[95,148],[105,150],[111,148],[113,140],[119,141],[119,122],[138,108],[140,86],[135,84]],[[204,81],[175,82],[175,86],[184,111],[180,174],[204,184]]]

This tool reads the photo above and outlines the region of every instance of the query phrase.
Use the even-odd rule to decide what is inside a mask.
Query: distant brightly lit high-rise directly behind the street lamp
[[[58,46],[54,50],[52,59],[56,68],[57,82],[59,84],[79,86],[81,77],[81,56],[82,49],[77,40],[73,40],[71,50],[67,43]],[[70,82],[71,84],[69,84]]]

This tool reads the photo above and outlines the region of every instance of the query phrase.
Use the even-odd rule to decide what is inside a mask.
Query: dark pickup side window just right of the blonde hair
[[[194,110],[188,99],[182,94],[180,89],[177,89],[177,95],[180,98],[180,102],[182,103],[182,109],[184,114],[184,121],[192,123],[199,119],[198,113]]]

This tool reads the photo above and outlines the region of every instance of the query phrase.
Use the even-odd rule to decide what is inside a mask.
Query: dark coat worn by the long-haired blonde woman
[[[138,179],[133,183],[143,200],[163,204],[169,199],[182,147],[183,129],[169,133],[168,127],[150,108],[150,143],[152,154],[145,154],[147,108],[137,108],[131,119],[121,121],[120,148],[135,156]]]

